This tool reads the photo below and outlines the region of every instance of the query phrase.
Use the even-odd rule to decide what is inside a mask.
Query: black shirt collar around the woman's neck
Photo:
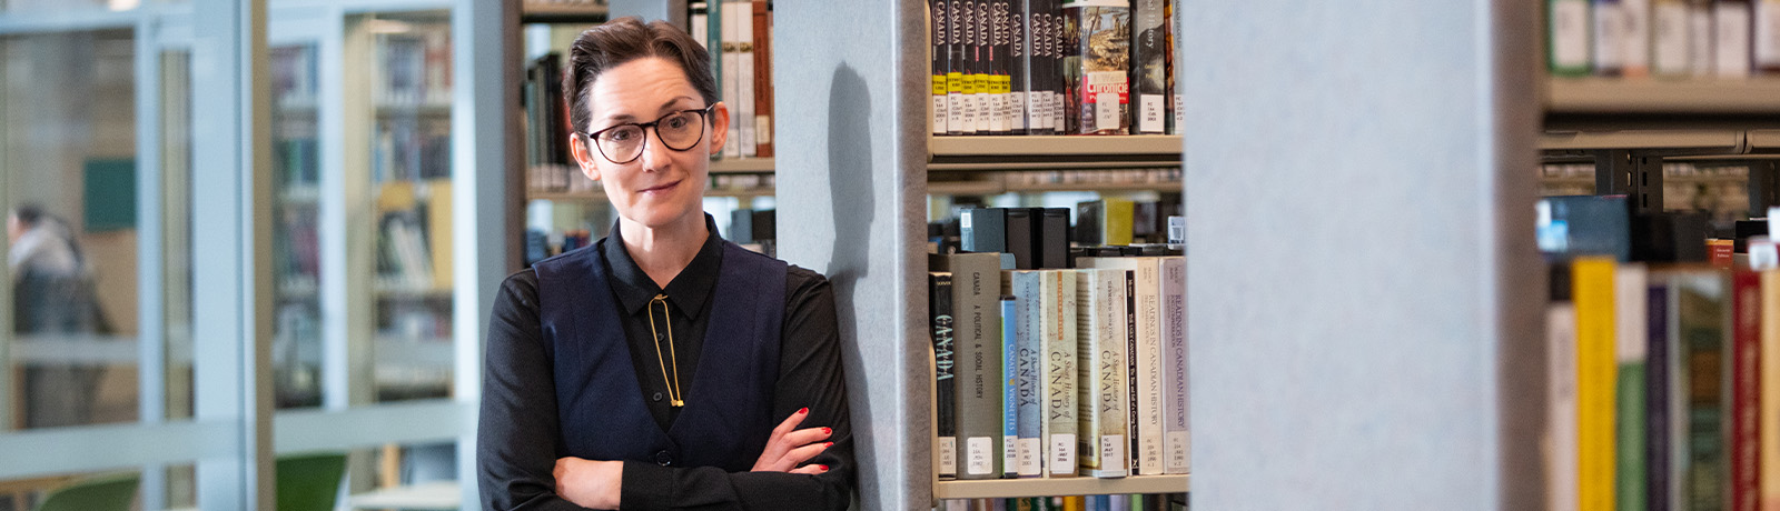
[[[717,232],[717,222],[710,215],[705,215],[705,229],[710,236],[705,236],[698,256],[692,256],[692,263],[668,282],[668,289],[662,289],[648,273],[643,273],[635,259],[630,259],[618,224],[612,224],[612,234],[600,240],[603,247],[598,250],[605,254],[607,270],[612,271],[609,282],[612,293],[618,295],[618,303],[625,307],[625,314],[641,312],[655,295],[668,295],[668,303],[691,319],[698,319],[705,312],[705,300],[717,287],[717,270],[723,266],[723,234]]]

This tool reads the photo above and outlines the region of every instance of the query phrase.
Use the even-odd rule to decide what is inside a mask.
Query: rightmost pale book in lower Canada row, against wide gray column
[[[1162,454],[1164,472],[1193,468],[1187,429],[1187,257],[1162,259]]]

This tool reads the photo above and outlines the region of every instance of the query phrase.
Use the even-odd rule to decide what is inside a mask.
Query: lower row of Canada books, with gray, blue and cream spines
[[[1187,474],[1185,257],[1075,264],[931,256],[942,479]]]

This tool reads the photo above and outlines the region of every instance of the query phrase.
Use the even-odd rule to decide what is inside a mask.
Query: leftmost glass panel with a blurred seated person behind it
[[[11,428],[137,419],[134,59],[132,30],[0,37]]]

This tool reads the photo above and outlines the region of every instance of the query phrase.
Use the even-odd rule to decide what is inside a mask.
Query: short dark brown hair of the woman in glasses
[[[680,64],[685,80],[692,83],[692,89],[698,89],[705,105],[717,103],[717,78],[710,75],[710,53],[705,51],[705,46],[668,21],[657,20],[644,25],[637,16],[625,16],[580,32],[575,44],[570,44],[562,94],[568,96],[564,98],[570,105],[568,119],[575,131],[586,133],[591,128],[587,115],[591,115],[593,106],[587,105],[587,89],[593,89],[593,80],[600,78],[605,69],[644,57],[660,57]]]

